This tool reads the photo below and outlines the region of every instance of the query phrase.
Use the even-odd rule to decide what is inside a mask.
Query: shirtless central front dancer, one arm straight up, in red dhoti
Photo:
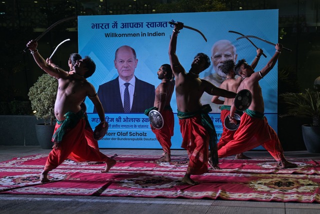
[[[191,174],[203,174],[208,171],[208,147],[209,140],[214,141],[216,149],[216,134],[208,112],[211,111],[209,104],[202,106],[200,98],[204,92],[210,95],[234,98],[235,93],[215,87],[208,81],[201,80],[199,73],[207,69],[210,59],[203,53],[194,57],[188,73],[181,66],[175,51],[179,30],[183,23],[176,23],[169,44],[170,65],[175,77],[175,96],[179,118],[180,131],[182,134],[181,147],[187,150],[189,164],[182,178],[183,183],[196,184],[190,178]],[[212,142],[211,141],[211,142]],[[210,149],[213,146],[210,144]],[[213,167],[218,167],[216,151],[213,151]]]

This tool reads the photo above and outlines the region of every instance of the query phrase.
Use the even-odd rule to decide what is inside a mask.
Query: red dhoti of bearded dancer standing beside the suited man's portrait
[[[150,125],[152,132],[155,134],[156,139],[159,141],[163,151],[170,154],[171,136],[173,136],[174,117],[172,110],[164,109],[161,112],[163,118],[163,127],[155,129]]]

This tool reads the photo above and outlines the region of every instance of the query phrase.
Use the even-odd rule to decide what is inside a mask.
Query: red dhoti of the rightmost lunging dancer
[[[243,113],[239,128],[233,138],[218,150],[219,158],[245,152],[262,145],[275,160],[285,160],[280,141],[265,117],[257,119]]]

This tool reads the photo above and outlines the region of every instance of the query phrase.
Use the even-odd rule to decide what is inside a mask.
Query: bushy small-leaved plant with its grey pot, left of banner
[[[29,89],[29,100],[34,115],[43,119],[44,123],[36,124],[35,131],[41,148],[51,149],[51,137],[54,131],[54,103],[57,92],[57,80],[48,74],[43,74]]]

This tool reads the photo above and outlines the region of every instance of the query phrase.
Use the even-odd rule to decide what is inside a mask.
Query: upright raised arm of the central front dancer
[[[175,78],[177,78],[179,73],[185,72],[183,67],[180,65],[178,57],[175,54],[177,36],[179,31],[182,28],[183,28],[183,23],[180,23],[180,22],[178,22],[177,25],[174,26],[174,30],[172,32],[170,43],[169,43],[169,60],[170,60],[171,69]]]

